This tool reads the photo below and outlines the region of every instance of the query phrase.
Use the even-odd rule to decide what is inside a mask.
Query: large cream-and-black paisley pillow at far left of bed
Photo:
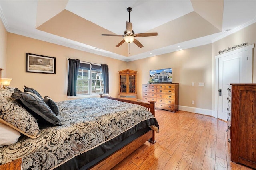
[[[28,137],[38,137],[39,127],[36,119],[11,96],[12,92],[9,90],[0,89],[0,122]]]

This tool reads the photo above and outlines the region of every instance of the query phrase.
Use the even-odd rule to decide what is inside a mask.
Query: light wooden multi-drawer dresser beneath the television
[[[143,102],[156,101],[157,109],[178,111],[179,84],[143,84]]]

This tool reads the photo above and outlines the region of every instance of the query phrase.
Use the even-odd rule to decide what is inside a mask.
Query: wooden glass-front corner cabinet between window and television
[[[119,98],[137,100],[136,74],[137,71],[129,69],[119,71]]]

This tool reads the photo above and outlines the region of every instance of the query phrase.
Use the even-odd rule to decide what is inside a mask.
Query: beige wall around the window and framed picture
[[[56,57],[56,74],[26,73],[26,53]],[[125,61],[71,49],[13,33],[7,33],[7,77],[10,86],[23,90],[24,85],[35,88],[44,97],[55,101],[67,100],[67,59],[80,59],[109,66],[110,96],[118,97],[118,71],[127,68]]]

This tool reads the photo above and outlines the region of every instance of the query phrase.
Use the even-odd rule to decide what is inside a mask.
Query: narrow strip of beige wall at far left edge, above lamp
[[[6,43],[7,43],[7,31],[0,19],[0,68],[4,69],[2,71],[2,77],[6,78]]]

